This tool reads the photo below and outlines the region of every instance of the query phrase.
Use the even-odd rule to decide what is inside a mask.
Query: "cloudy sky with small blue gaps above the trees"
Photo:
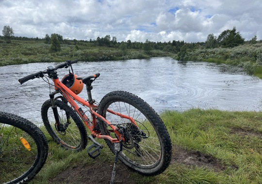
[[[240,32],[262,40],[261,0],[0,0],[0,30],[15,36],[118,42],[205,42],[209,34]],[[0,32],[1,34],[2,32]]]

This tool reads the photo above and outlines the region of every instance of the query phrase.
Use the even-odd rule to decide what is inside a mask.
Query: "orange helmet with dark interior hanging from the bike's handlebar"
[[[83,83],[82,80],[76,79],[77,75],[69,73],[65,77],[62,78],[61,82],[66,85],[72,92],[75,94],[79,94],[82,92]]]

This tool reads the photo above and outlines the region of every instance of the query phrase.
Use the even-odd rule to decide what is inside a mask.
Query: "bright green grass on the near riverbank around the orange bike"
[[[148,177],[131,173],[138,184],[259,184],[262,183],[262,112],[229,112],[215,109],[165,111],[161,117],[169,131],[173,148],[199,151],[213,156],[222,170],[188,166],[174,162],[164,173]],[[65,151],[49,140],[46,165],[31,184],[48,184],[65,169],[97,161],[113,163],[114,155],[105,146],[99,160],[86,151]],[[116,171],[117,172],[117,171]]]

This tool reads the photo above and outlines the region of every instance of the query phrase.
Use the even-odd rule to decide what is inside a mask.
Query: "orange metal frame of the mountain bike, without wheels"
[[[110,123],[108,120],[106,120],[103,116],[101,116],[100,114],[98,114],[96,112],[96,110],[98,109],[98,106],[96,106],[94,103],[89,103],[88,101],[82,99],[81,97],[79,97],[77,94],[75,94],[74,92],[72,92],[69,88],[66,87],[66,85],[64,85],[59,78],[53,79],[54,82],[54,86],[55,86],[55,93],[50,93],[50,96],[56,93],[61,93],[64,98],[66,99],[66,101],[75,109],[75,111],[78,113],[78,115],[81,117],[82,121],[85,123],[85,125],[88,127],[88,129],[90,130],[91,134],[93,135],[94,138],[103,138],[103,139],[108,139],[111,142],[115,143],[115,142],[119,142],[119,141],[125,141],[125,138],[123,136],[123,134],[120,134],[118,132],[119,128],[114,126],[112,123]],[[91,96],[91,95],[90,95]],[[92,100],[92,99],[89,99]],[[89,108],[91,116],[93,121],[91,122],[88,117],[84,114],[84,112],[82,111],[82,108],[79,107],[76,102],[79,102],[80,104],[82,104],[82,106],[86,106]],[[131,123],[134,123],[136,126],[137,124],[134,122],[134,120],[128,116],[128,115],[124,115],[118,112],[115,112],[111,109],[107,109],[108,112],[115,114],[117,116],[120,116],[122,118],[128,119],[131,121]],[[117,135],[117,138],[111,138],[110,136],[107,135],[101,135],[101,133],[99,131],[97,131],[95,129],[96,125],[97,125],[97,118],[102,120],[103,122],[107,123],[111,128],[112,128],[112,132],[114,132]],[[137,126],[138,127],[138,126]]]

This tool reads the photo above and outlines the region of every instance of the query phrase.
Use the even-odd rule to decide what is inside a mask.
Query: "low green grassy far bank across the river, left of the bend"
[[[171,56],[171,53],[153,50],[146,53],[141,49],[122,51],[116,47],[96,46],[91,43],[79,45],[61,45],[61,51],[51,52],[50,44],[43,41],[13,40],[6,44],[0,40],[0,66],[26,64],[32,62],[79,61],[112,61],[127,59],[145,59],[150,57]]]

